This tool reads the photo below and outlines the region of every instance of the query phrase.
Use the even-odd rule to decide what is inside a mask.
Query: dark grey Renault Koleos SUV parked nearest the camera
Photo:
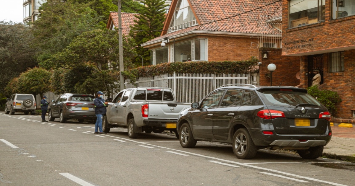
[[[297,150],[305,159],[322,155],[332,131],[327,108],[306,89],[289,86],[225,85],[181,112],[182,147],[197,140],[231,143],[237,158],[258,149]]]

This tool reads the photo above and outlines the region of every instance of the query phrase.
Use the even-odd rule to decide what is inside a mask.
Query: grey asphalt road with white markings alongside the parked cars
[[[355,185],[354,163],[268,150],[241,160],[221,143],[187,149],[173,134],[129,139],[127,129],[39,121],[0,114],[0,186]]]

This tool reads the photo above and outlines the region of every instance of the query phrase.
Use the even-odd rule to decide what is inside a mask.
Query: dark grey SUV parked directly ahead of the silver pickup
[[[80,123],[85,119],[96,119],[95,97],[87,94],[63,94],[49,105],[48,120],[53,122],[59,118],[60,123],[68,119],[77,119]]]

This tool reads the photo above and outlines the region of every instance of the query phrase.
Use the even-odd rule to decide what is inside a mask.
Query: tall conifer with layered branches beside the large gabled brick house
[[[130,36],[135,39],[137,46],[137,54],[143,57],[144,63],[150,64],[150,52],[148,49],[144,49],[141,44],[156,38],[160,35],[165,21],[165,0],[141,0],[144,5],[141,6],[141,10],[138,12],[140,15],[136,15],[139,20],[135,20],[134,26],[131,26]],[[133,31],[138,30],[138,31]],[[141,63],[140,58],[136,58],[136,63]]]

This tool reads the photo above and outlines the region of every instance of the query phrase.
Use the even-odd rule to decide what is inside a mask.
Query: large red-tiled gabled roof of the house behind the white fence
[[[173,17],[175,6],[178,2],[178,0],[173,0],[171,2],[171,7],[167,16],[167,20],[164,23],[164,27],[163,27],[164,31],[162,32],[162,35],[148,41],[147,43],[144,43],[143,45],[152,44],[154,43],[154,41],[161,40],[164,37],[173,37],[176,35],[181,35],[182,33],[191,32],[192,30],[200,30],[200,31],[208,31],[208,32],[223,32],[224,34],[240,33],[245,35],[279,34],[280,32],[279,30],[271,26],[268,27],[258,26],[258,21],[265,21],[267,17],[277,15],[277,13],[279,13],[279,11],[282,10],[280,8],[282,6],[281,1],[277,1],[277,0],[187,0],[187,1],[189,1],[190,7],[199,25],[166,34],[167,30],[169,29],[171,19]],[[257,9],[257,10],[253,10],[253,9]],[[224,19],[224,20],[213,22],[220,19]]]

